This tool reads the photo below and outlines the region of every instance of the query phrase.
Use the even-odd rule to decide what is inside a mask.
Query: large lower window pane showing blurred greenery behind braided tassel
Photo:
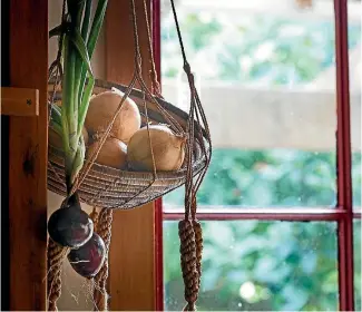
[[[335,311],[335,223],[205,222],[198,311]],[[177,222],[164,224],[165,310],[182,311]]]

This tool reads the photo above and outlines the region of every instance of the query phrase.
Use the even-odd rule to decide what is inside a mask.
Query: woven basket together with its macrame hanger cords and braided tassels
[[[203,236],[202,227],[196,218],[196,193],[205,177],[207,167],[211,162],[212,156],[212,143],[211,134],[207,125],[207,119],[200,104],[197,90],[195,88],[194,75],[192,72],[190,66],[186,59],[184,45],[179,31],[179,26],[177,22],[176,10],[174,1],[172,2],[173,13],[175,17],[175,25],[177,28],[177,35],[180,43],[180,50],[184,61],[184,70],[188,79],[189,95],[190,95],[190,108],[188,113],[178,109],[176,106],[167,103],[160,95],[159,84],[157,81],[157,74],[155,69],[151,40],[150,40],[150,26],[148,23],[146,1],[144,1],[144,12],[148,33],[148,52],[149,61],[151,64],[150,80],[151,87],[148,88],[144,81],[145,74],[141,71],[141,53],[138,42],[138,25],[135,0],[130,1],[131,8],[131,21],[134,25],[134,41],[135,41],[135,68],[134,75],[130,79],[128,86],[112,84],[110,81],[96,80],[92,88],[92,95],[98,95],[107,90],[118,89],[123,92],[121,99],[118,107],[106,129],[101,129],[96,136],[97,147],[91,152],[87,153],[81,166],[76,167],[80,170],[75,174],[75,176],[68,175],[66,177],[65,168],[65,155],[59,147],[49,144],[48,149],[48,188],[57,194],[65,196],[62,207],[58,209],[52,216],[50,216],[48,222],[48,232],[55,230],[52,233],[58,233],[65,231],[63,228],[69,225],[68,220],[61,223],[61,226],[56,226],[57,213],[58,216],[61,214],[71,215],[72,223],[70,225],[71,237],[74,232],[74,226],[77,224],[74,222],[76,220],[76,214],[82,214],[82,220],[87,221],[87,225],[94,226],[94,232],[91,233],[90,242],[91,246],[96,246],[96,241],[91,241],[97,237],[97,242],[104,247],[104,262],[99,262],[99,271],[94,273],[95,275],[81,274],[82,276],[92,280],[95,285],[95,309],[107,311],[108,310],[108,294],[106,282],[108,277],[108,253],[110,246],[111,236],[111,221],[112,211],[115,208],[129,209],[136,206],[143,205],[155,198],[158,198],[166,193],[185,185],[185,216],[178,224],[179,238],[180,238],[180,269],[183,271],[183,279],[185,284],[185,311],[195,311],[196,301],[200,287],[200,276],[202,276],[202,250],[203,250]],[[66,0],[63,1],[62,8],[62,25],[60,29],[65,29],[67,23],[66,14]],[[65,32],[62,32],[63,35]],[[62,35],[59,37],[59,49],[56,60],[52,62],[49,69],[49,127],[51,123],[55,121],[52,113],[57,110],[58,105],[62,101],[62,65],[61,65],[61,40]],[[88,77],[89,84],[92,85],[92,76]],[[136,85],[139,86],[137,89]],[[117,116],[120,114],[121,108],[126,99],[129,98],[136,103],[141,116],[141,127],[147,129],[148,134],[148,145],[150,148],[150,155],[153,159],[153,169],[149,172],[135,172],[130,169],[130,166],[125,166],[125,169],[116,169],[112,167],[104,166],[97,163],[97,157],[100,149],[106,143],[107,138],[111,136],[111,128],[116,121]],[[66,100],[66,99],[65,99]],[[70,101],[71,103],[71,101]],[[87,103],[87,101],[86,101]],[[57,106],[57,107],[56,107]],[[74,107],[72,107],[74,108]],[[67,109],[67,106],[65,106]],[[79,110],[79,108],[78,108]],[[75,111],[71,110],[75,116]],[[84,111],[87,111],[86,109]],[[59,113],[60,114],[60,113]],[[78,114],[78,111],[77,111]],[[84,115],[82,115],[84,116]],[[67,117],[67,116],[66,116]],[[78,117],[78,116],[77,116]],[[62,120],[62,119],[61,119]],[[66,124],[67,125],[67,124]],[[182,138],[184,145],[185,159],[178,170],[165,172],[158,170],[155,162],[155,150],[157,148],[151,144],[150,125],[167,125],[172,130],[172,135]],[[70,127],[69,127],[70,128]],[[167,130],[169,130],[167,129]],[[70,140],[75,138],[75,133],[69,134],[68,128],[62,129],[65,140]],[[68,136],[68,137],[67,137]],[[77,137],[76,137],[77,138]],[[94,138],[94,136],[92,136]],[[82,137],[79,138],[82,143]],[[74,140],[75,142],[75,140]],[[78,143],[76,143],[78,144]],[[65,144],[67,147],[67,145]],[[80,146],[80,145],[79,145]],[[79,146],[77,148],[79,148]],[[84,145],[82,145],[84,146]],[[71,150],[75,152],[74,145],[71,145]],[[75,153],[78,153],[77,149]],[[84,153],[79,152],[79,153]],[[79,159],[84,156],[81,155]],[[81,160],[82,162],[82,160]],[[69,164],[68,164],[69,165]],[[74,163],[72,163],[74,165]],[[179,166],[178,166],[179,167]],[[70,176],[70,177],[69,177]],[[94,206],[94,212],[91,215],[84,216],[85,212],[81,211],[80,202],[84,202],[90,206]],[[72,202],[70,205],[69,203]],[[75,207],[76,205],[76,207]],[[71,207],[70,207],[71,206]],[[100,207],[101,211],[97,212],[96,207]],[[79,209],[78,209],[79,208]],[[71,209],[71,211],[69,211]],[[56,215],[56,216],[55,216]],[[53,221],[51,223],[50,221]],[[89,222],[88,222],[89,221]],[[91,222],[90,222],[91,221]],[[49,225],[50,224],[50,225]],[[76,225],[75,225],[76,224]],[[69,226],[68,226],[69,227]],[[60,230],[59,230],[60,228]],[[82,228],[88,228],[82,226]],[[59,231],[58,231],[59,230]],[[58,232],[57,232],[58,231]],[[79,231],[78,231],[79,232]],[[79,233],[76,233],[79,234]],[[96,234],[96,235],[95,235]],[[57,234],[58,235],[58,234]],[[69,260],[69,255],[77,254],[84,246],[88,243],[84,242],[82,245],[77,246],[76,244],[66,242],[66,235],[61,236],[63,240],[58,240],[59,236],[50,234],[51,238],[48,244],[48,267],[49,272],[47,275],[48,281],[48,310],[57,311],[57,301],[61,293],[61,267],[62,262],[68,256],[68,261],[71,264],[78,265],[89,262],[88,259],[77,259],[76,261]],[[78,235],[79,236],[79,235]],[[76,238],[78,237],[76,235]],[[90,236],[89,236],[90,237]],[[57,242],[56,242],[57,241]],[[85,241],[85,240],[84,240]],[[104,242],[104,243],[101,243]],[[99,246],[98,244],[98,246]],[[78,248],[79,247],[79,248]],[[100,248],[100,247],[99,247]],[[91,253],[92,255],[96,252]],[[89,255],[87,255],[89,256]],[[71,256],[72,259],[72,256]],[[96,271],[95,271],[96,272]]]

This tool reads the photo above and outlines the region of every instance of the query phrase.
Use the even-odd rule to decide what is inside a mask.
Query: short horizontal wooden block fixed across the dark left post
[[[1,115],[38,116],[39,90],[1,87]]]

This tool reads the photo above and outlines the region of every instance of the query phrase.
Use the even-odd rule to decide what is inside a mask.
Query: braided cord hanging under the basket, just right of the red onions
[[[111,237],[111,221],[112,209],[102,208],[99,213],[97,223],[97,233],[104,240],[106,245],[106,260],[95,277],[95,302],[96,311],[108,311],[108,293],[107,293],[107,279],[108,279],[108,253]]]

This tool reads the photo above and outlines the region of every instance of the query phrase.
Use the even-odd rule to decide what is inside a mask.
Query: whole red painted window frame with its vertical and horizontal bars
[[[153,39],[157,72],[160,78],[160,1],[153,2]],[[243,208],[216,209],[208,207],[197,214],[199,220],[263,220],[263,221],[326,221],[337,222],[337,265],[340,311],[354,311],[353,267],[353,212],[351,177],[351,119],[348,49],[348,0],[334,0],[335,62],[336,62],[336,170],[337,205],[335,208]],[[182,211],[164,209],[162,199],[156,201],[156,310],[164,309],[163,290],[163,220],[180,220]]]

